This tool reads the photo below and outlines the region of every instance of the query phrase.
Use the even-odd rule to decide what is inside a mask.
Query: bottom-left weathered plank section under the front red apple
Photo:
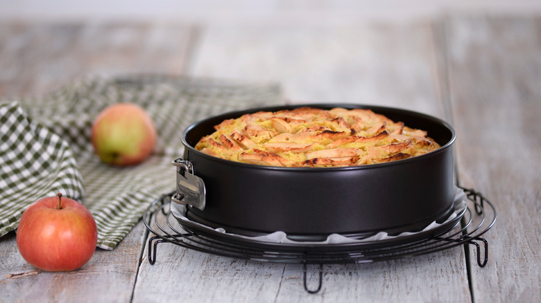
[[[26,263],[15,234],[0,238],[0,302],[129,302],[144,244],[137,224],[114,250],[96,249],[83,267],[49,273]]]

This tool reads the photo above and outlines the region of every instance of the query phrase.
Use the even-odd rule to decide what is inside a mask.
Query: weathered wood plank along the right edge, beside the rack
[[[445,35],[458,177],[498,212],[476,302],[541,297],[541,19],[453,17]]]

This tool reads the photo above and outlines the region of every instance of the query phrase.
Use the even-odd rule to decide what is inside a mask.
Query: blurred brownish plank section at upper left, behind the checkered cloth
[[[180,74],[192,35],[182,24],[0,23],[0,96],[47,93],[89,73]]]

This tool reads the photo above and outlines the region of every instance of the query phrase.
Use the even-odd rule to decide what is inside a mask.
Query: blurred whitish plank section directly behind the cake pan
[[[279,82],[292,103],[353,102],[439,116],[427,23],[201,30],[193,75]]]

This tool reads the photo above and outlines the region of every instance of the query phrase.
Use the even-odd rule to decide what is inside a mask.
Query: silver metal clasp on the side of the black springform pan
[[[194,175],[194,165],[182,158],[173,160],[172,164],[177,167],[177,193],[173,194],[171,201],[205,209],[205,183]]]

